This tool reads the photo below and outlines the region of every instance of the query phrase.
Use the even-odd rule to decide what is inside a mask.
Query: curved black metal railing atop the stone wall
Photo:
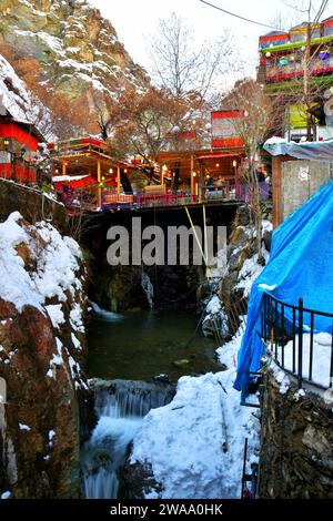
[[[299,388],[303,382],[333,387],[333,314],[307,309],[302,298],[294,306],[264,294],[262,338],[274,361],[297,379]]]

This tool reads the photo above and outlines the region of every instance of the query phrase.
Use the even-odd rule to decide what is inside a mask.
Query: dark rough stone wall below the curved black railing
[[[332,401],[326,403],[310,390],[299,391],[289,378],[282,386],[278,379],[269,369],[262,395],[259,496],[332,499]]]

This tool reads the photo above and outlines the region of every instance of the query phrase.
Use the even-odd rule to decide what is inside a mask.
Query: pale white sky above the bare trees
[[[258,59],[258,39],[271,29],[255,25],[220,12],[200,0],[89,0],[109,18],[119,39],[131,58],[149,70],[147,35],[157,30],[159,19],[168,19],[172,12],[186,19],[192,25],[195,39],[219,39],[222,28],[229,28],[235,35],[242,58],[255,68]],[[208,0],[228,11],[244,18],[271,24],[276,12],[289,17],[287,0]],[[304,0],[303,0],[304,1]],[[290,0],[291,4],[295,0]],[[320,0],[314,0],[320,4]],[[330,0],[333,8],[333,0]],[[333,10],[333,9],[332,9]],[[331,14],[326,10],[326,17]],[[292,18],[293,14],[290,14]],[[254,71],[253,71],[254,73]]]

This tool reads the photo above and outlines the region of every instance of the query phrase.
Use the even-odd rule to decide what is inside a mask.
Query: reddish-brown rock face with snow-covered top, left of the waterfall
[[[81,251],[16,212],[0,224],[0,496],[77,498],[89,399]]]

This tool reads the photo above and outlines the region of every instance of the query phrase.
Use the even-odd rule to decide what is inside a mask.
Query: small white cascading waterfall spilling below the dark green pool
[[[117,499],[117,471],[125,462],[129,445],[143,417],[169,403],[174,388],[127,380],[91,380],[91,386],[99,421],[82,449],[84,494],[88,499]]]

